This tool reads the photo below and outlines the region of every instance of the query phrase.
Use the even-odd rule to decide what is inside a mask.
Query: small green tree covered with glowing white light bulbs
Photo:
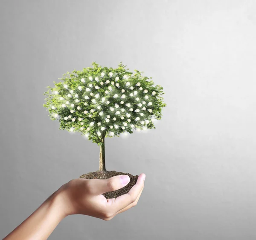
[[[153,119],[160,120],[163,88],[154,86],[143,72],[99,66],[67,72],[44,93],[51,120],[58,120],[60,129],[81,132],[100,147],[99,171],[106,171],[105,137],[133,133],[134,129],[155,129]],[[151,79],[151,78],[150,78]]]

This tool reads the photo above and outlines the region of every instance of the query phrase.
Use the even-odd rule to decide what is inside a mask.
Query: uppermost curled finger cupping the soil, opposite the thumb
[[[123,194],[122,196],[117,197],[112,203],[109,204],[109,210],[115,213],[129,206],[131,203],[134,203],[137,200],[140,191],[144,187],[144,178],[145,174],[140,174],[137,183],[131,188],[131,190],[127,194]]]

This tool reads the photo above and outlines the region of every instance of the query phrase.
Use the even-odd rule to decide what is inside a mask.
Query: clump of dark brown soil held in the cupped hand
[[[104,195],[105,198],[116,198],[119,197],[123,194],[128,193],[128,191],[130,191],[130,189],[132,188],[132,186],[134,186],[137,182],[138,179],[138,175],[134,176],[131,175],[129,173],[124,173],[121,171],[93,171],[93,172],[89,172],[87,174],[83,174],[81,175],[79,178],[87,178],[87,179],[108,179],[114,176],[118,176],[118,175],[128,175],[130,177],[130,182],[123,187],[122,189],[118,189],[116,191],[109,191],[106,192],[102,195]]]

